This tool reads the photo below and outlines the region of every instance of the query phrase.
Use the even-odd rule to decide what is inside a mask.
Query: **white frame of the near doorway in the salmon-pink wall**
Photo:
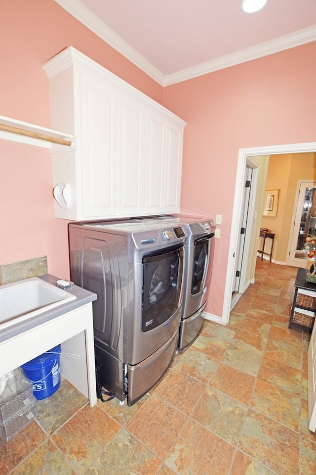
[[[292,143],[285,145],[270,145],[265,147],[240,148],[238,151],[236,187],[233,206],[231,238],[228,251],[227,273],[224,292],[224,303],[222,312],[222,322],[227,325],[230,315],[230,304],[233,289],[235,257],[237,252],[237,241],[239,232],[241,209],[241,198],[243,192],[243,183],[245,177],[247,157],[258,155],[279,155],[284,153],[304,153],[316,152],[316,142]],[[247,250],[245,250],[247,252]],[[249,252],[249,248],[248,248]]]

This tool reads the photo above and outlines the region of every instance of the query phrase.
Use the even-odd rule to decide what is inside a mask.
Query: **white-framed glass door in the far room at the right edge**
[[[309,234],[315,234],[316,231],[316,182],[300,180],[297,188],[288,265],[307,269],[313,259],[307,259],[301,248],[304,245],[305,238]]]

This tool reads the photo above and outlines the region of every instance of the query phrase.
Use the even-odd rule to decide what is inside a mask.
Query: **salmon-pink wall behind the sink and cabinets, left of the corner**
[[[50,127],[42,64],[73,46],[162,101],[162,87],[53,0],[1,2],[0,114]],[[67,132],[67,131],[65,131]],[[0,140],[0,264],[47,255],[48,272],[69,277],[67,221],[56,219],[47,149]]]

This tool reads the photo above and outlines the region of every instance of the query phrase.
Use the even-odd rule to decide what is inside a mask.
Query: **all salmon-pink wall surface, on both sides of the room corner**
[[[316,43],[163,91],[53,0],[4,2],[0,32],[1,115],[50,127],[41,65],[72,45],[188,122],[182,208],[223,215],[207,308],[221,316],[238,149],[315,141]],[[49,151],[0,141],[0,264],[47,255],[48,271],[69,277],[67,222],[54,217],[52,186]]]

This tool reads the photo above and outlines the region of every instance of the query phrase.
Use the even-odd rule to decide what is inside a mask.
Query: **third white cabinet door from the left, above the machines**
[[[162,116],[149,111],[146,136],[145,212],[163,212],[166,125]]]

